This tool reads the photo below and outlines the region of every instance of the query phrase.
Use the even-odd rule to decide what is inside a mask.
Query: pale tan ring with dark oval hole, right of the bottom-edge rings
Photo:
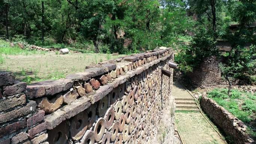
[[[94,138],[95,141],[100,141],[105,132],[105,120],[100,117],[94,126]]]

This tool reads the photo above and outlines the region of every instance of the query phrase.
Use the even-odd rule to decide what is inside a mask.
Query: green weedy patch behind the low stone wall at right
[[[228,96],[228,89],[213,89],[208,93],[208,97],[216,101],[235,117],[242,120],[248,126],[248,133],[256,137],[256,94],[249,92],[231,90]]]

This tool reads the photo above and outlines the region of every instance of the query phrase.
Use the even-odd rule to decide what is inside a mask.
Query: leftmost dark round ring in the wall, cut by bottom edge
[[[54,129],[48,131],[49,144],[67,144],[68,140],[68,123],[65,120],[56,126]]]

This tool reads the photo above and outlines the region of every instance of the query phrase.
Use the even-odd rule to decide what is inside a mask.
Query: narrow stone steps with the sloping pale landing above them
[[[173,96],[177,110],[199,111],[195,99],[183,88],[173,75]]]

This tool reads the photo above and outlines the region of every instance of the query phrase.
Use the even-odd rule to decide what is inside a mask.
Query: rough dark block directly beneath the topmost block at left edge
[[[12,96],[12,95],[20,94],[23,91],[25,91],[26,86],[27,86],[27,83],[25,82],[17,82],[16,84],[11,86],[4,86],[3,95]]]

